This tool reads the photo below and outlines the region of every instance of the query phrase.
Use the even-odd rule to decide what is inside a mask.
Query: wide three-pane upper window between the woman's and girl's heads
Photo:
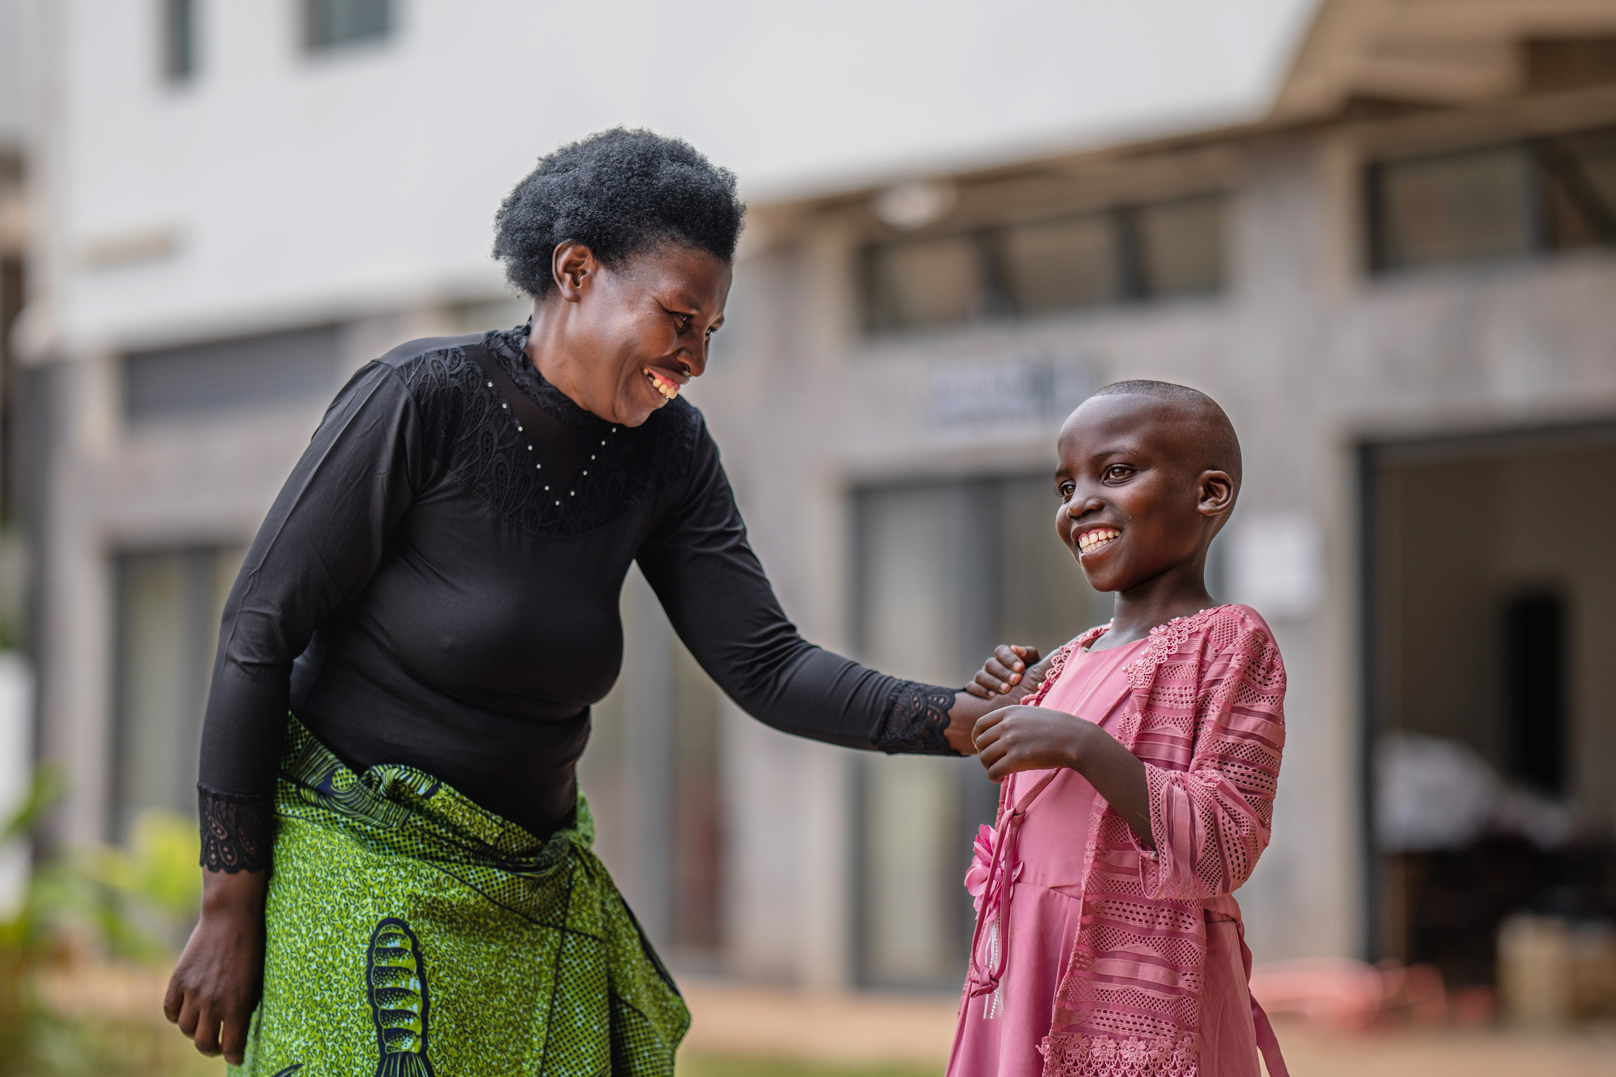
[[[871,244],[865,270],[871,333],[1215,292],[1223,284],[1223,197]]]

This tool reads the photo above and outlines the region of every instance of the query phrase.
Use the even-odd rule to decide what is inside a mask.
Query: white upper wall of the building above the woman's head
[[[401,0],[393,37],[318,57],[301,3],[197,6],[178,86],[155,3],[40,6],[68,350],[498,294],[499,200],[619,123],[688,137],[771,199],[1246,118],[1314,5]]]

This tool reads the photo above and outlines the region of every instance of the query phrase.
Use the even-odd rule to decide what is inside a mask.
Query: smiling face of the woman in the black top
[[[556,287],[533,310],[528,354],[540,373],[611,423],[638,426],[706,370],[724,323],[730,265],[663,244],[617,266],[561,244]]]

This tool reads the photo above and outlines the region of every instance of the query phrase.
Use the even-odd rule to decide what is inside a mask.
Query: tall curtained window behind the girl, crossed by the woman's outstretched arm
[[[1105,620],[1055,536],[1049,476],[855,494],[855,641],[873,667],[962,685],[997,643],[1046,652]],[[974,759],[863,756],[855,770],[856,974],[958,988],[971,938],[960,885],[997,786]]]

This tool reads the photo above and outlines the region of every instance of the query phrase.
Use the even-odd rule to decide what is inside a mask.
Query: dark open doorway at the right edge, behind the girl
[[[1367,956],[1492,988],[1513,914],[1616,922],[1616,423],[1361,467]]]

